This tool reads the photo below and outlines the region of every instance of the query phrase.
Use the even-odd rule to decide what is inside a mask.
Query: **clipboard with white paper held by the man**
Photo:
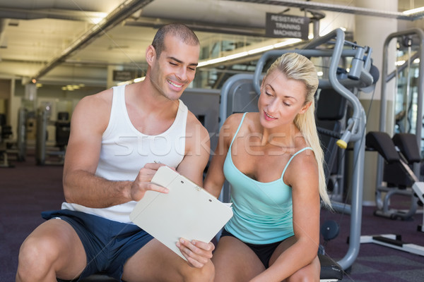
[[[167,166],[156,171],[151,183],[169,192],[147,191],[129,218],[183,259],[175,245],[179,238],[208,243],[232,217],[228,204]]]

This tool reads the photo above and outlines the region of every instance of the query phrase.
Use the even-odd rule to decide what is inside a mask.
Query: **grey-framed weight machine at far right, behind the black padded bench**
[[[396,43],[398,43],[398,48],[402,46],[408,49],[406,54],[406,62],[398,66],[395,71],[388,73],[388,53],[389,53],[389,44],[393,39],[396,39]],[[423,85],[424,85],[424,32],[418,28],[413,28],[410,30],[404,30],[401,32],[394,32],[387,37],[384,42],[383,49],[383,68],[382,68],[382,96],[381,96],[381,106],[380,106],[380,123],[379,123],[379,131],[380,132],[391,132],[391,129],[388,129],[387,124],[387,92],[388,92],[388,83],[397,78],[398,73],[402,71],[406,72],[406,90],[404,90],[405,101],[402,104],[405,106],[405,114],[404,119],[408,119],[409,125],[404,125],[402,128],[407,130],[408,133],[413,133],[413,128],[415,128],[415,136],[416,141],[419,147],[422,147],[422,128],[423,128]],[[412,50],[412,48],[414,50]],[[418,63],[418,79],[414,85],[416,86],[416,121],[413,123],[411,120],[411,103],[413,102],[413,95],[411,95],[411,63],[416,59],[420,59]],[[396,88],[400,88],[399,85],[396,85]],[[397,90],[397,89],[396,89]],[[399,99],[399,98],[398,98]],[[400,121],[396,123],[399,124]],[[415,125],[415,126],[412,126]],[[421,155],[422,149],[419,149],[419,156]],[[418,209],[417,199],[413,195],[413,189],[409,177],[406,177],[404,174],[404,179],[401,179],[390,173],[388,171],[390,169],[389,164],[384,164],[384,160],[380,154],[377,160],[377,180],[376,180],[376,205],[377,210],[375,211],[375,215],[387,217],[389,219],[409,219],[413,214],[416,214]],[[413,172],[417,178],[420,178],[420,162],[416,161],[413,163]],[[389,183],[389,185],[387,185]],[[390,183],[394,183],[396,185],[390,185]],[[393,195],[403,195],[411,198],[411,204],[408,210],[394,209],[390,207],[391,197]]]

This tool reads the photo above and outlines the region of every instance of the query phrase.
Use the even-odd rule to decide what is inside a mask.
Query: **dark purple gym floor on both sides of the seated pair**
[[[0,281],[15,281],[18,251],[26,236],[43,219],[40,212],[59,209],[64,200],[62,166],[36,166],[33,154],[26,161],[13,161],[15,167],[0,168]],[[400,201],[401,202],[401,201]],[[401,204],[407,204],[407,202]],[[408,243],[424,245],[424,234],[416,231],[422,214],[411,221],[393,221],[373,216],[373,207],[363,208],[362,234],[401,234]],[[340,225],[337,238],[326,244],[326,252],[336,261],[346,255],[350,218],[322,211],[321,221]],[[424,257],[374,244],[360,246],[358,258],[343,277],[345,281],[424,281]]]

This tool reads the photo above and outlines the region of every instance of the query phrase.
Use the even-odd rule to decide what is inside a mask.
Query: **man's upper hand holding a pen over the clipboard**
[[[129,198],[133,201],[139,201],[144,197],[144,194],[148,190],[167,193],[169,190],[167,188],[155,185],[151,183],[153,176],[160,166],[165,166],[165,164],[146,164],[143,168],[140,169],[139,174],[137,175],[136,180],[131,184],[131,190]]]

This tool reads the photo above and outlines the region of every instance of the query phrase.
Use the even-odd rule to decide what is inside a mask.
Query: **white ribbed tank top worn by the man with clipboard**
[[[96,176],[108,180],[135,180],[147,163],[154,161],[177,167],[184,158],[187,106],[179,100],[174,123],[158,135],[146,135],[131,123],[125,105],[125,85],[112,87],[110,121],[102,135],[102,148]],[[105,219],[131,223],[129,214],[136,202],[126,202],[103,209],[64,202],[62,209],[94,214]]]

